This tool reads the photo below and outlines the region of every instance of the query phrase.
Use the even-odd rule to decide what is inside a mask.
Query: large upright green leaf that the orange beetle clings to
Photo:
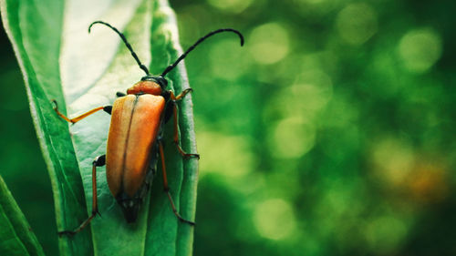
[[[129,1],[91,5],[78,0],[3,0],[5,30],[23,70],[30,108],[53,185],[58,230],[78,227],[91,211],[91,162],[106,152],[109,115],[98,112],[67,125],[50,104],[74,117],[111,105],[143,76],[113,31],[88,25],[95,20],[119,28],[151,73],[161,74],[181,54],[173,11],[167,1]],[[183,64],[167,76],[180,93],[189,87]],[[179,104],[181,146],[196,152],[191,95]],[[194,220],[197,159],[182,159],[172,141],[172,122],[165,126],[165,161],[171,195],[181,216]],[[111,196],[105,168],[98,168],[97,217],[90,227],[59,240],[62,255],[191,255],[192,226],[177,220],[163,192],[161,167],[139,220],[124,220]],[[52,232],[52,235],[57,235]]]

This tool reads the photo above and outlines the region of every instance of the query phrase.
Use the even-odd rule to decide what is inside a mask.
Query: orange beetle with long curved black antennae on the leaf
[[[164,78],[181,60],[187,56],[195,46],[205,39],[222,32],[233,32],[241,39],[244,45],[244,36],[233,28],[222,28],[202,36],[187,51],[177,58],[174,63],[166,67],[159,76],[150,75],[149,69],[140,62],[130,46],[127,38],[119,30],[103,21],[95,21],[88,26],[88,33],[92,26],[100,24],[108,26],[116,32],[125,46],[130,50],[131,56],[136,60],[145,73],[140,81],[127,89],[127,94],[117,93],[117,99],[112,106],[93,108],[88,112],[76,117],[67,118],[58,111],[57,101],[53,100],[54,110],[60,118],[75,124],[83,118],[87,118],[99,110],[104,110],[111,115],[107,151],[105,155],[98,156],[92,162],[92,212],[87,220],[84,220],[75,230],[59,231],[59,235],[73,235],[84,229],[93,220],[98,211],[97,179],[98,167],[106,165],[106,178],[111,194],[115,197],[127,222],[134,222],[138,218],[140,204],[150,189],[151,179],[156,172],[157,161],[160,156],[161,171],[163,174],[163,188],[171,203],[171,209],[176,217],[182,222],[194,225],[191,220],[181,217],[174,206],[171,198],[166,167],[163,154],[163,126],[173,117],[174,136],[173,142],[184,159],[197,158],[196,153],[187,153],[180,146],[178,131],[178,108],[177,102],[192,91],[192,88],[184,89],[179,95],[175,95],[171,89],[166,89],[168,81]]]

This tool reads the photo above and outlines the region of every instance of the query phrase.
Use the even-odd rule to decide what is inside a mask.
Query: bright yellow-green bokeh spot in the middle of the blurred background
[[[271,154],[277,158],[297,159],[314,147],[316,129],[302,118],[286,118],[274,129],[269,141]]]

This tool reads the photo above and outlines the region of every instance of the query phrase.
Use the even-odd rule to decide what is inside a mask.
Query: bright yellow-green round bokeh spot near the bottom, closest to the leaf
[[[254,225],[264,238],[283,240],[295,230],[292,206],[282,199],[265,200],[254,210]]]

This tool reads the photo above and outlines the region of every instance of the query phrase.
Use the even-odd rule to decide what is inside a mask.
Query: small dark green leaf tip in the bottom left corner
[[[26,216],[0,177],[0,255],[45,255]]]

